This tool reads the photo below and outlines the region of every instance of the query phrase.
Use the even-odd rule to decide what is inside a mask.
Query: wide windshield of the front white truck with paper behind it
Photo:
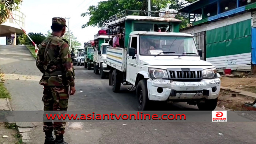
[[[172,52],[172,53],[161,53]],[[196,44],[191,37],[140,36],[140,54],[142,55],[181,55],[198,53]],[[191,54],[188,54],[191,55]],[[195,56],[195,54],[192,54]]]

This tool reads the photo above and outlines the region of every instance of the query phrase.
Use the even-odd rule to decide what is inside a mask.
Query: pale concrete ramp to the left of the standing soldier
[[[0,45],[0,71],[10,91],[12,110],[42,110],[41,72],[26,46]],[[20,127],[33,127],[31,122],[18,122]]]

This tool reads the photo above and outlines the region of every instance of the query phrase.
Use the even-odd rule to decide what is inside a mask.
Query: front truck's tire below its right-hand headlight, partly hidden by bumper
[[[204,99],[204,103],[197,103],[199,110],[212,111],[216,108],[218,98],[216,99]]]

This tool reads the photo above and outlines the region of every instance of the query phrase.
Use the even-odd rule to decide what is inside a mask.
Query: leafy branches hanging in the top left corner
[[[0,24],[4,23],[10,16],[10,12],[19,8],[22,0],[0,0]]]

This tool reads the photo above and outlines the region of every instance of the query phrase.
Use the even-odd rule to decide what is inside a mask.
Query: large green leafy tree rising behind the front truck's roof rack
[[[191,3],[195,0],[151,0],[151,11],[158,11],[161,8],[173,8],[178,10],[185,4]],[[82,28],[87,26],[98,26],[101,27],[106,23],[110,16],[117,14],[123,10],[148,10],[148,0],[108,0],[101,1],[98,5],[92,5],[89,7],[89,12],[84,12],[81,16],[90,16],[89,22],[84,24]],[[188,23],[185,20],[187,15],[178,15],[177,18],[184,20],[181,25],[184,26]],[[188,17],[188,16],[187,16]]]

